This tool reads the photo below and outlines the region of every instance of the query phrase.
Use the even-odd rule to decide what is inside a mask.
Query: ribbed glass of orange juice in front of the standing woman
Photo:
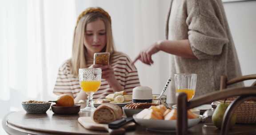
[[[184,92],[187,99],[190,100],[196,93],[196,74],[175,74],[176,92]]]

